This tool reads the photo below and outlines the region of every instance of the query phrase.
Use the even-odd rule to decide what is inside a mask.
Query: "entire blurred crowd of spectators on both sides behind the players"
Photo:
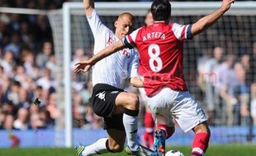
[[[63,2],[2,0],[0,6],[50,10]],[[256,43],[253,49],[253,53],[236,56],[215,47],[211,55],[197,59],[197,85],[211,125],[248,125],[249,112],[256,125]],[[78,48],[71,64],[88,57]],[[64,118],[57,103],[57,70],[47,17],[0,13],[0,130],[54,128],[57,119]],[[73,75],[72,86],[73,126],[102,127],[102,119],[93,114],[89,102],[90,76]],[[40,104],[34,103],[36,98]]]

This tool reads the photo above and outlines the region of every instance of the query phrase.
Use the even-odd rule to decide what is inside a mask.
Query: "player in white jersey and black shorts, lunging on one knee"
[[[133,21],[130,13],[118,16],[114,34],[102,24],[93,0],[83,0],[83,5],[95,41],[94,55],[130,33]],[[88,146],[78,145],[78,156],[122,152],[126,139],[127,153],[139,156],[150,154],[137,140],[139,98],[123,90],[128,79],[134,86],[143,83],[138,77],[138,53],[134,49],[122,49],[92,67],[92,108],[104,118],[107,138]]]

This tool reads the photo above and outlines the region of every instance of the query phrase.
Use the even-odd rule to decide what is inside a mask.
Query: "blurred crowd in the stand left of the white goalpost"
[[[1,7],[55,9],[61,1],[0,1]],[[55,53],[46,16],[0,13],[0,129],[53,128]],[[39,98],[41,103],[33,101]]]

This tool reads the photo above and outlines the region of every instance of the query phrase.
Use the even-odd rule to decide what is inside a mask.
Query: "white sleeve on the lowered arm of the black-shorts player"
[[[127,78],[139,76],[138,65],[139,64],[139,55],[135,51],[135,48],[130,50],[130,62],[128,65],[128,76]]]

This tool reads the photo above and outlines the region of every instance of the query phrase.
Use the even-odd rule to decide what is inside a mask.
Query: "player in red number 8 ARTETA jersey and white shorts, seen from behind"
[[[183,40],[192,39],[213,25],[230,9],[232,2],[235,0],[223,0],[221,7],[196,23],[179,25],[169,24],[171,5],[168,0],[155,0],[151,5],[154,25],[127,34],[125,39],[104,48],[88,61],[78,63],[75,71],[88,71],[103,57],[122,48],[138,48],[149,108],[154,116],[156,132],[160,134],[154,142],[156,152],[164,155],[161,145],[164,146],[164,140],[173,135],[173,117],[183,131],[195,132],[192,156],[202,156],[208,148],[210,129],[205,113],[192,99],[183,79]]]

